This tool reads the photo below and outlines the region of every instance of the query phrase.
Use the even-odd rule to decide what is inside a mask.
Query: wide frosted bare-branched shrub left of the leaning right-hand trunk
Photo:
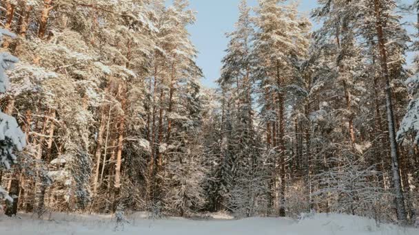
[[[336,167],[320,172],[313,179],[319,186],[313,194],[320,200],[317,203],[326,203],[332,212],[374,216],[365,213],[379,210],[376,206],[381,208],[381,201],[390,194],[380,188],[381,173],[376,171],[376,166],[365,167],[359,160],[349,158],[329,161],[334,161]]]

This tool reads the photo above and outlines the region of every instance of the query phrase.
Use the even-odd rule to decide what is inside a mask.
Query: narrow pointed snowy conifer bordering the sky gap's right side
[[[225,94],[223,103],[229,102],[225,108],[226,121],[232,122],[227,126],[231,130],[225,133],[225,146],[228,154],[224,157],[228,164],[221,164],[222,172],[228,174],[231,181],[227,205],[238,216],[253,216],[256,214],[258,197],[264,186],[261,177],[263,162],[260,159],[260,137],[254,126],[253,91],[254,80],[252,76],[252,45],[254,40],[254,25],[250,17],[250,8],[247,1],[239,5],[239,17],[234,32],[227,34],[230,39],[227,55],[223,58],[223,68],[218,84]],[[230,166],[230,167],[226,167]],[[216,169],[220,171],[220,169]],[[219,181],[222,183],[222,181]],[[221,189],[221,187],[216,187]]]

